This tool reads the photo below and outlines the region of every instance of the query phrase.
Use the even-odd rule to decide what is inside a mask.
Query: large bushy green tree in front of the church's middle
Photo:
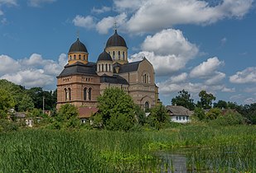
[[[110,130],[129,130],[135,123],[135,105],[133,99],[123,90],[109,88],[98,97],[99,113],[102,124]]]

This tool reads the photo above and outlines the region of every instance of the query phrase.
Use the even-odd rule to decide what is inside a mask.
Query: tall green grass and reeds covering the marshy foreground
[[[0,172],[161,172],[186,156],[191,171],[256,171],[255,126],[191,124],[160,131],[24,129],[0,133]]]

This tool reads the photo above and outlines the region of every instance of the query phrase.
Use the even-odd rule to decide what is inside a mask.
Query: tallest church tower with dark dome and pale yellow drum
[[[114,35],[109,37],[106,44],[106,52],[110,54],[113,63],[128,63],[128,47],[122,36],[118,35],[117,29]]]

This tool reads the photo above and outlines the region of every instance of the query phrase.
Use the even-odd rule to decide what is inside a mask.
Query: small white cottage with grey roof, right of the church
[[[189,123],[191,121],[192,111],[182,105],[167,105],[167,113],[171,121],[175,123]]]

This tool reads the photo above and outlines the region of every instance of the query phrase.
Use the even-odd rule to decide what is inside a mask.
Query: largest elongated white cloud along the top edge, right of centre
[[[118,1],[127,2],[124,1]],[[139,1],[142,2],[142,1]],[[199,0],[148,0],[127,22],[127,28],[133,33],[150,32],[179,24],[208,25],[226,17],[241,18],[249,12],[253,0],[224,0],[215,7]],[[128,5],[127,7],[130,7]]]

